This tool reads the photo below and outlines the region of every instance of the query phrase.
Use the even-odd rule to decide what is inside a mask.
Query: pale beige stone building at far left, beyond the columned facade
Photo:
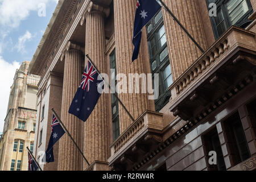
[[[28,74],[30,62],[16,70],[11,86],[3,133],[0,138],[0,171],[27,171],[28,152],[34,150],[36,100],[39,76]]]

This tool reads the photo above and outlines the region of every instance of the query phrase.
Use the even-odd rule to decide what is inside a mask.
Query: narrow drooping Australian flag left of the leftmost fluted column
[[[53,146],[57,142],[57,140],[59,140],[65,134],[65,131],[61,127],[60,122],[57,120],[54,114],[52,115],[51,128],[51,137],[49,139],[46,154],[44,155],[44,159],[47,163],[54,162]]]

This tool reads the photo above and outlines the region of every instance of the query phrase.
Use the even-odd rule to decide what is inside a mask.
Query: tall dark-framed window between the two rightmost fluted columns
[[[153,83],[154,74],[159,74],[159,97],[155,100],[156,111],[159,111],[170,100],[171,92],[168,88],[173,82],[162,10],[148,22],[146,29]]]

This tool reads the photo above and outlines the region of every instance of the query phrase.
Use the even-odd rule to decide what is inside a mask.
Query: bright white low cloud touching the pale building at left
[[[10,87],[13,84],[13,78],[16,69],[19,69],[20,64],[16,61],[13,63],[7,63],[0,56],[0,132],[3,131],[3,125],[5,123],[4,119],[7,113],[7,106],[9,102]]]

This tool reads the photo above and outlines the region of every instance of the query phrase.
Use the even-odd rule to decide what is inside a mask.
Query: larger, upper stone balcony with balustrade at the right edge
[[[255,81],[255,33],[231,27],[170,86],[170,110],[199,122]]]

